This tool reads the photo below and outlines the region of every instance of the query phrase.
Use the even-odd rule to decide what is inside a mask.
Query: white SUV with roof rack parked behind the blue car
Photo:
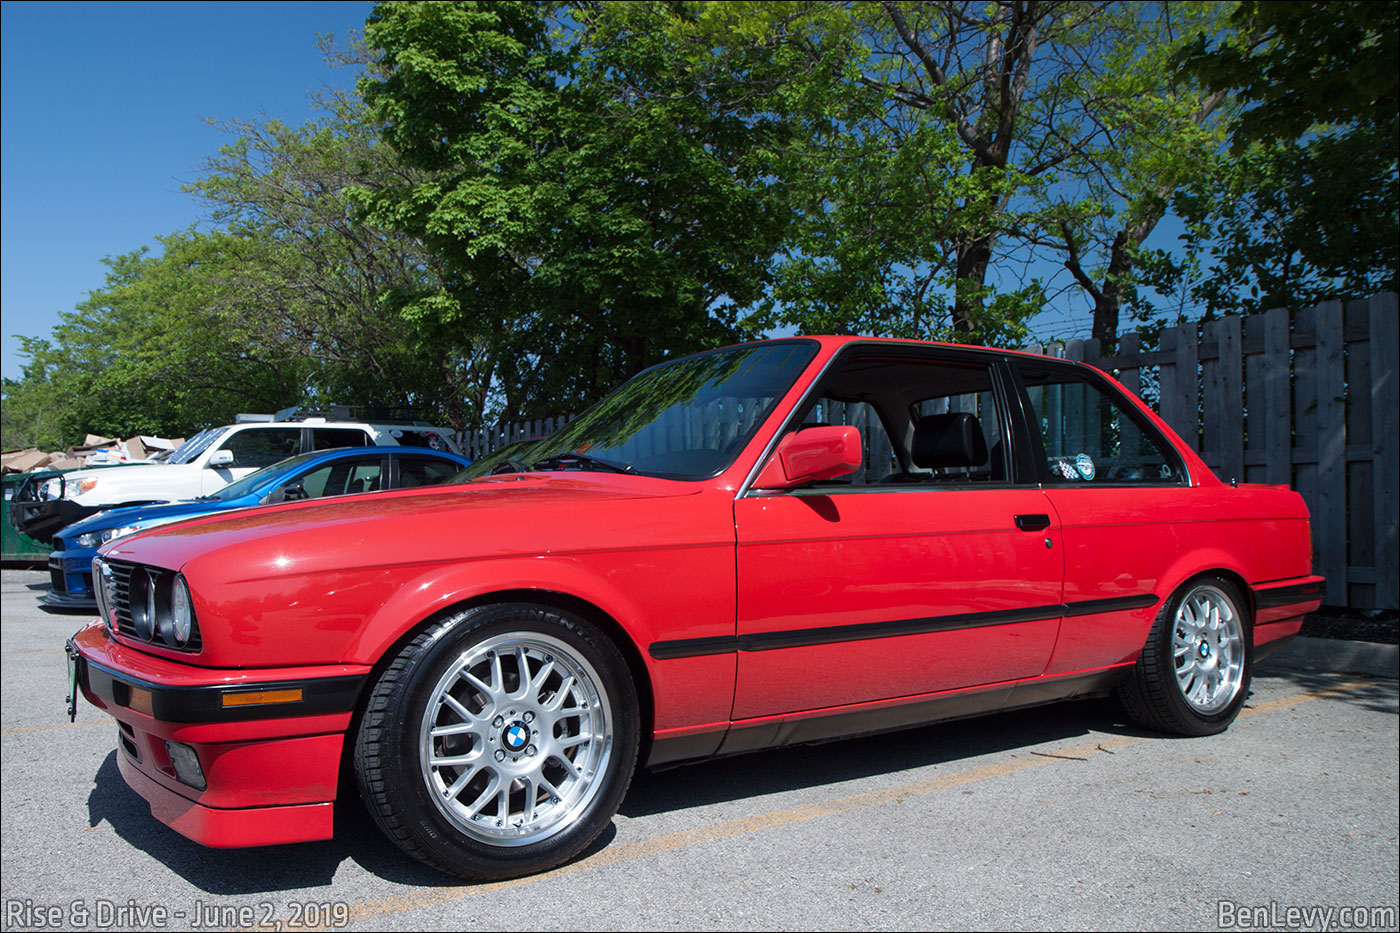
[[[344,409],[342,409],[344,410]],[[459,454],[445,427],[421,422],[328,420],[287,409],[263,420],[207,427],[164,462],[77,469],[43,482],[15,503],[14,524],[38,541],[98,511],[154,502],[197,499],[295,454],[330,447],[430,447]]]

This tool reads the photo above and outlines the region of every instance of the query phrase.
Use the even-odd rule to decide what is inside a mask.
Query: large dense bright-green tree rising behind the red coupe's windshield
[[[781,123],[703,73],[666,7],[384,3],[361,91],[426,178],[372,223],[442,258],[440,324],[493,339],[505,415],[570,410],[750,333],[785,230]]]

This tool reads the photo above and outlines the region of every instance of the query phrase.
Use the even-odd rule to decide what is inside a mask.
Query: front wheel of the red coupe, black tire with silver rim
[[[622,804],[637,745],[636,688],[606,636],[561,609],[493,604],[430,625],[389,663],[354,770],[399,848],[486,881],[582,852]]]

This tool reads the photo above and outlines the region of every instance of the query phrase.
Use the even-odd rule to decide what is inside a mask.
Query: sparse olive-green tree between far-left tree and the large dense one
[[[361,217],[364,192],[420,175],[379,143],[360,101],[322,98],[304,126],[223,129],[232,141],[189,191],[249,255],[225,268],[211,310],[304,360],[318,398],[417,409],[456,429],[479,423],[490,360],[472,335],[438,326],[440,259]]]

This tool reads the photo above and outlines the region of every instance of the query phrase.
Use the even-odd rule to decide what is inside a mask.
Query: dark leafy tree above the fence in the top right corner
[[[1176,55],[1247,106],[1176,196],[1187,254],[1163,279],[1208,314],[1400,290],[1400,7],[1246,1],[1232,25]]]

